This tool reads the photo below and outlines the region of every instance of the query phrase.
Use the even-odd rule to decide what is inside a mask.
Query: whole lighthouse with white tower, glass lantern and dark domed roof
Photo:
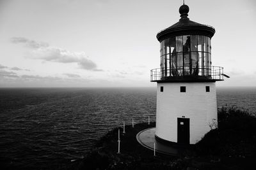
[[[186,4],[179,13],[179,22],[157,33],[160,68],[150,81],[157,82],[156,139],[189,145],[218,127],[216,81],[225,74],[212,66],[214,27],[189,20]]]

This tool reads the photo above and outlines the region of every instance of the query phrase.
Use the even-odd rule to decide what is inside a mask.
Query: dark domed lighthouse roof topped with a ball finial
[[[193,22],[188,18],[189,6],[183,4],[179,8],[180,13],[180,20],[179,22],[173,24],[172,26],[160,31],[157,33],[158,41],[163,41],[163,39],[170,38],[172,36],[181,36],[186,34],[196,34],[196,35],[203,35],[212,36],[215,33],[214,27],[209,25],[199,24],[197,22]]]

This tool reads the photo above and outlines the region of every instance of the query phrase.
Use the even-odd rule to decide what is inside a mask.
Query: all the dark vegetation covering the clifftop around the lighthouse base
[[[234,107],[218,110],[218,128],[177,157],[154,157],[141,146],[136,134],[155,124],[125,127],[121,153],[117,154],[118,129],[113,129],[95,145],[92,152],[71,169],[253,169],[256,166],[256,118]],[[122,133],[121,133],[122,134]]]

